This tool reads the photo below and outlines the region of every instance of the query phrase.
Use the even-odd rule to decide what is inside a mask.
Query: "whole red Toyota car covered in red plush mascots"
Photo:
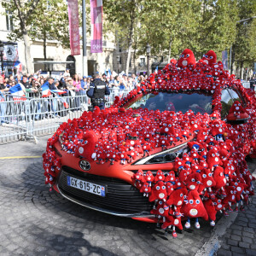
[[[113,106],[68,119],[50,137],[45,183],[70,201],[117,216],[189,229],[195,218],[244,210],[253,195],[256,99],[217,62],[184,49],[178,61]]]

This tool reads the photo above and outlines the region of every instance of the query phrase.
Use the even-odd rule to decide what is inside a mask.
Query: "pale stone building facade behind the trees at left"
[[[15,24],[13,24],[12,14],[9,14],[3,9],[2,2],[0,1],[0,41],[4,44],[3,50],[3,69],[8,70],[9,73],[15,72],[15,61],[20,61],[22,65],[22,73],[26,73],[26,61],[25,61],[25,47],[22,40],[17,42],[9,41],[9,32],[13,30]],[[83,75],[83,49],[82,41],[80,44],[81,55],[70,55],[70,49],[65,49],[61,46],[60,42],[47,41],[46,43],[46,61],[73,61],[73,63],[51,64],[44,65],[38,63],[44,61],[44,45],[42,40],[31,40],[31,57],[33,61],[34,72],[42,69],[43,72],[64,72],[66,68],[70,69],[72,74],[78,73]],[[90,53],[90,39],[88,35],[87,39],[87,60],[88,60],[88,75],[93,74],[95,71],[104,73],[105,70],[113,70],[113,51],[115,50],[114,38],[108,37],[108,40],[104,40],[102,44],[102,53],[91,54]],[[1,60],[0,60],[1,62]],[[2,63],[1,63],[2,64]],[[0,65],[2,67],[2,65]],[[3,72],[4,72],[3,70]]]

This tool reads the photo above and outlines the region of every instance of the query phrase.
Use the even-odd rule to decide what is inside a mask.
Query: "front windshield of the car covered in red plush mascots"
[[[198,92],[160,92],[157,95],[148,94],[143,96],[137,102],[134,102],[130,108],[159,109],[161,112],[165,110],[181,111],[182,113],[191,109],[195,113],[212,113],[212,95],[199,94]]]

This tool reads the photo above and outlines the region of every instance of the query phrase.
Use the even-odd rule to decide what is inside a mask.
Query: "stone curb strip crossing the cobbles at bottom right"
[[[252,175],[253,177],[256,177],[256,170],[254,170]],[[220,218],[212,230],[211,238],[205,242],[197,253],[195,253],[195,256],[212,256],[218,251],[218,249],[221,247],[221,243],[219,242],[218,238],[220,236],[224,236],[226,230],[235,222],[238,212],[229,212],[229,214],[230,216],[228,217],[223,216]]]

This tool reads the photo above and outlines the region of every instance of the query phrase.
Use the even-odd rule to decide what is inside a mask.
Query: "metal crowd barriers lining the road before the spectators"
[[[130,90],[112,90],[106,96],[106,107],[113,104],[114,96],[126,96]],[[32,138],[53,133],[67,119],[79,118],[88,110],[90,98],[84,92],[76,96],[47,98],[0,98],[0,143]]]

